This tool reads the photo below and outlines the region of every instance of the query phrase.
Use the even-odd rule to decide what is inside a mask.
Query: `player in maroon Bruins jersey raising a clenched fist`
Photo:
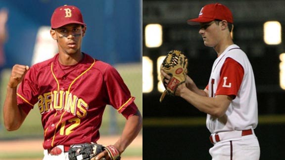
[[[121,137],[111,145],[113,152],[121,154],[142,129],[135,97],[119,73],[81,52],[85,34],[81,11],[76,6],[60,6],[51,16],[50,30],[59,53],[31,68],[14,65],[11,71],[3,109],[5,127],[18,129],[38,103],[44,160],[68,160],[71,146],[96,143],[107,104],[127,119]],[[101,158],[111,160],[106,151],[92,160]]]

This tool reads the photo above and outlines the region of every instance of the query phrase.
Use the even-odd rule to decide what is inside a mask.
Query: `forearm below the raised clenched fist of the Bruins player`
[[[18,129],[23,120],[24,113],[17,106],[16,88],[7,87],[6,99],[3,106],[4,125],[8,131]]]

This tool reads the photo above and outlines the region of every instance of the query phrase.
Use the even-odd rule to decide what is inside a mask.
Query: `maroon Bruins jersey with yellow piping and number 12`
[[[59,64],[58,54],[32,66],[17,91],[25,113],[38,102],[45,149],[96,142],[105,106],[135,111],[134,99],[116,69],[88,54],[73,66]]]

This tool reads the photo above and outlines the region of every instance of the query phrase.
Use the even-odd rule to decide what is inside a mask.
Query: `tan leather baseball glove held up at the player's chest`
[[[164,71],[171,78],[165,83],[165,77],[161,74],[161,80],[165,91],[161,94],[159,101],[162,102],[166,94],[175,95],[177,87],[184,83],[187,76],[188,59],[185,54],[179,50],[171,50],[163,60],[160,70]]]

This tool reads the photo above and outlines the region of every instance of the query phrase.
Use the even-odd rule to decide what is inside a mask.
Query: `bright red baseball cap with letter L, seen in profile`
[[[231,10],[221,3],[212,3],[205,5],[201,9],[199,17],[190,19],[187,21],[187,23],[190,25],[197,25],[199,23],[211,22],[216,19],[226,20],[230,23],[234,23]]]

